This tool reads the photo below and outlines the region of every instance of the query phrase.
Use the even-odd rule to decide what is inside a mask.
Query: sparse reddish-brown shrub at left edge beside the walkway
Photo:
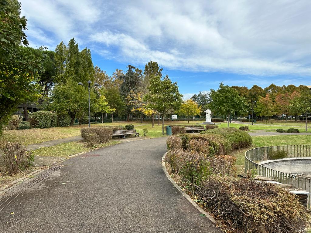
[[[34,161],[34,155],[19,143],[4,143],[2,146],[2,162],[9,175],[23,171]]]

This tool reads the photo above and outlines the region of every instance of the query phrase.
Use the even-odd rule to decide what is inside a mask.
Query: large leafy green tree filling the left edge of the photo
[[[43,48],[29,53],[26,18],[17,0],[0,1],[0,133],[20,103],[39,97],[38,72],[43,71]]]

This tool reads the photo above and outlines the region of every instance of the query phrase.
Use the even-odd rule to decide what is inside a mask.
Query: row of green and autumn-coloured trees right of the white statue
[[[194,96],[197,97],[197,96]],[[212,109],[214,114],[246,115],[252,110],[260,117],[286,115],[297,116],[305,114],[306,130],[307,115],[311,112],[311,91],[309,87],[300,85],[276,86],[271,84],[262,89],[254,85],[251,89],[247,87],[228,86],[221,83],[219,89],[211,89],[206,98],[206,108]],[[229,127],[229,120],[228,120]]]

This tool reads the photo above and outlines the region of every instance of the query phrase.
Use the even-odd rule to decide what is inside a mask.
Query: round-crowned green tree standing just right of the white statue
[[[240,97],[236,89],[223,83],[220,83],[218,90],[211,89],[210,97],[213,110],[228,116],[228,128],[231,113],[246,111],[245,98]]]

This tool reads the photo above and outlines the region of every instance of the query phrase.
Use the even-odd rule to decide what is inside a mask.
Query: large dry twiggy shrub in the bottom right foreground
[[[304,207],[275,184],[209,176],[196,194],[234,232],[304,232]]]

